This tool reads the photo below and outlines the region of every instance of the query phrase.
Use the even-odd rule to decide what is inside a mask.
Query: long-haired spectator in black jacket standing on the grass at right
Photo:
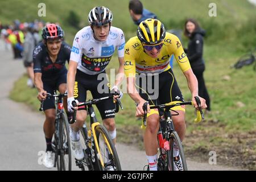
[[[188,56],[192,71],[198,81],[199,96],[206,100],[207,111],[210,111],[210,97],[203,77],[203,72],[205,71],[205,63],[203,59],[203,36],[205,35],[205,31],[200,28],[199,23],[197,23],[195,19],[187,19],[185,22],[184,34],[189,38],[188,48],[185,49],[185,53]]]

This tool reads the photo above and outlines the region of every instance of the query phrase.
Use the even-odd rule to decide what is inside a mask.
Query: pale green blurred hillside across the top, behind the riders
[[[46,17],[38,16],[38,4],[46,4]],[[226,0],[226,1],[211,1],[211,0],[162,0],[162,1],[142,1],[146,9],[153,11],[158,18],[162,20],[167,27],[183,28],[185,18],[197,18],[201,20],[203,27],[214,28],[217,25],[222,26],[230,23],[226,30],[234,30],[241,27],[242,23],[250,18],[255,18],[256,11],[253,5],[247,1]],[[217,16],[210,17],[208,15],[209,3],[216,3]],[[111,1],[40,1],[40,0],[9,0],[0,1],[0,21],[2,23],[11,23],[14,19],[20,19],[22,22],[31,21],[34,19],[42,19],[46,22],[59,22],[67,33],[68,42],[72,43],[73,35],[77,32],[67,23],[69,11],[75,11],[80,16],[80,27],[88,25],[87,16],[89,10],[94,6],[104,5],[113,11],[113,25],[122,28],[126,33],[126,37],[133,36],[132,32],[136,30],[136,26],[131,21],[128,11],[128,0],[111,0]],[[232,27],[230,25],[232,24]],[[210,31],[212,32],[212,30]],[[230,34],[229,34],[230,35]],[[232,34],[231,34],[232,35]]]

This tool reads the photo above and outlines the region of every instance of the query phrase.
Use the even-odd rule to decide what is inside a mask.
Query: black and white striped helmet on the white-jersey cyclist
[[[92,26],[103,26],[112,22],[113,15],[111,11],[104,6],[94,7],[90,10],[88,21]]]

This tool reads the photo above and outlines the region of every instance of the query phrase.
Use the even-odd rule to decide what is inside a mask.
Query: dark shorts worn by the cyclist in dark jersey
[[[52,78],[51,81],[44,81],[43,80],[43,87],[47,93],[54,94],[55,90],[59,90],[60,84],[67,84],[67,72]],[[55,99],[53,97],[46,98],[43,105],[43,110],[47,109],[55,109]]]

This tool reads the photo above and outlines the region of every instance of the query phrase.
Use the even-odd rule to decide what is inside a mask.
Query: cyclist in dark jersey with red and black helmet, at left
[[[56,24],[47,24],[43,28],[40,43],[33,52],[35,86],[38,89],[38,100],[44,101],[43,110],[46,115],[44,121],[44,135],[46,137],[46,155],[43,164],[48,168],[54,166],[52,152],[52,136],[55,131],[55,102],[54,98],[46,98],[47,93],[53,94],[59,90],[61,94],[67,90],[67,68],[71,47],[63,42],[63,30]],[[67,99],[63,100],[67,110]]]

